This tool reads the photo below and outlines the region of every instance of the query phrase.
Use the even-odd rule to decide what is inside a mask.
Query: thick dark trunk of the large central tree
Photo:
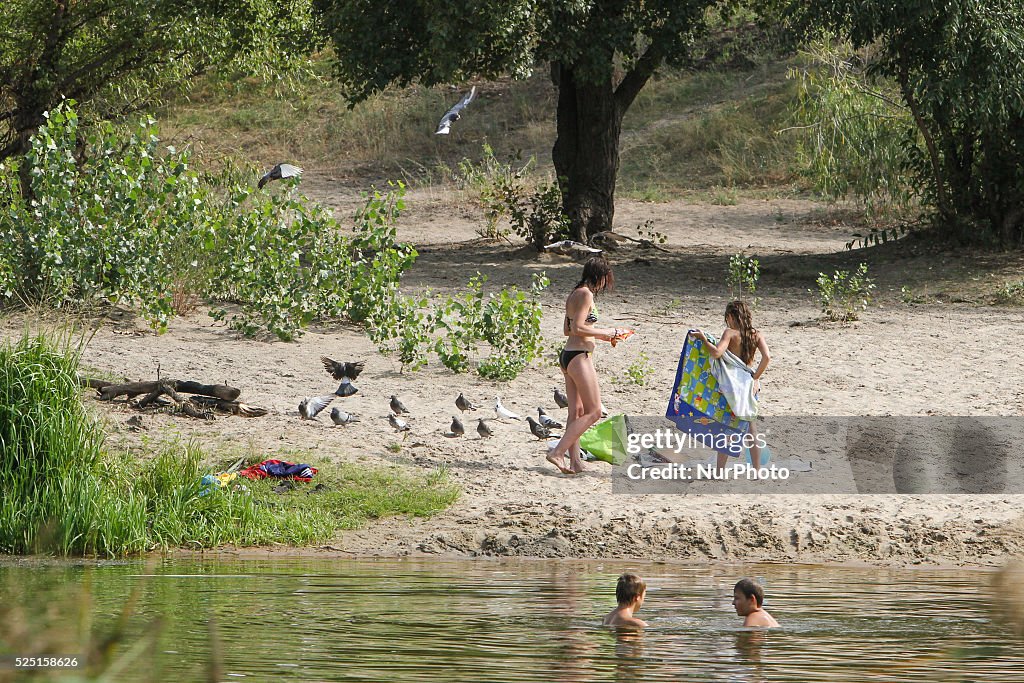
[[[587,242],[611,229],[623,112],[610,82],[579,82],[570,68],[552,66],[558,86],[557,136],[551,158],[572,239]]]

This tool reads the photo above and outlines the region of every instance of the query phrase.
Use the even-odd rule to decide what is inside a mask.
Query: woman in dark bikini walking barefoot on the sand
[[[548,454],[548,462],[563,474],[584,471],[580,457],[580,437],[601,419],[601,391],[597,386],[597,373],[591,356],[594,340],[618,340],[622,330],[599,330],[594,313],[594,295],[610,289],[615,279],[611,266],[600,256],[591,258],[583,266],[583,276],[565,300],[565,321],[562,334],[568,337],[565,348],[558,356],[558,365],[565,376],[565,395],[569,399],[565,431],[558,444]],[[565,454],[569,467],[565,467]]]

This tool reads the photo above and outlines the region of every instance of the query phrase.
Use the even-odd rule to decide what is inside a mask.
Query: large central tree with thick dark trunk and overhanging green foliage
[[[314,0],[350,101],[550,65],[552,148],[577,239],[611,227],[623,116],[659,67],[687,56],[713,0]]]

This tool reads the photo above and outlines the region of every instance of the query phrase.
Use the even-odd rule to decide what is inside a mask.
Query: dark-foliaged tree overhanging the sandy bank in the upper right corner
[[[901,163],[939,225],[1024,243],[1024,4],[810,0],[791,18],[872,48],[864,76],[892,84],[908,113]]]

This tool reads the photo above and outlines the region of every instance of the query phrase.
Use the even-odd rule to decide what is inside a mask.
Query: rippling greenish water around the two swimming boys
[[[648,583],[642,633],[600,627],[625,570]],[[763,581],[782,629],[739,628],[731,587],[743,575]],[[115,676],[125,681],[208,680],[216,646],[221,680],[1024,682],[1024,643],[990,620],[989,577],[617,560],[6,560],[0,598],[37,632],[71,629],[81,605],[105,632],[134,592]]]

